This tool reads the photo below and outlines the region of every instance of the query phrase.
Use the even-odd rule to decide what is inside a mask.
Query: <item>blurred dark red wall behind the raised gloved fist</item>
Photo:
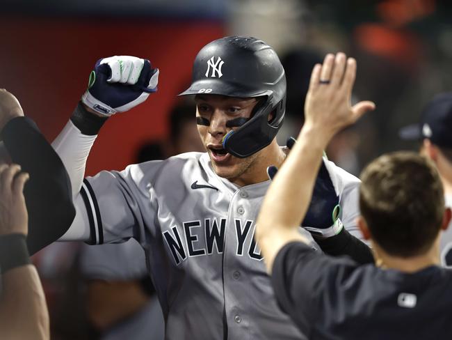
[[[134,112],[108,121],[92,148],[88,174],[122,169],[135,161],[135,150],[143,141],[166,135],[166,113],[190,84],[197,52],[224,35],[216,12],[191,17],[175,11],[171,17],[143,10],[149,7],[145,1],[136,1],[129,12],[108,10],[108,2],[104,10],[96,1],[73,1],[71,11],[60,8],[70,8],[71,1],[60,1],[60,6],[40,3],[33,11],[35,2],[15,1],[0,11],[0,86],[17,95],[49,140],[72,114],[97,59],[134,55],[160,69],[158,94]]]

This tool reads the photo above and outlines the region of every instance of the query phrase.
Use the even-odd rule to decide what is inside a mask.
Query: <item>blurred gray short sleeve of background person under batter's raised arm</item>
[[[134,239],[118,245],[83,245],[80,268],[86,279],[130,281],[147,275],[145,252]]]

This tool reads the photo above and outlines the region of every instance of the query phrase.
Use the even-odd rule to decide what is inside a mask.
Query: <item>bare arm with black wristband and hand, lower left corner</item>
[[[28,214],[22,191],[28,173],[0,165],[0,334],[2,339],[49,339],[49,314],[25,238]]]

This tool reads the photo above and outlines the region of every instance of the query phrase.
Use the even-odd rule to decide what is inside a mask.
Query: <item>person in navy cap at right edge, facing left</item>
[[[446,206],[452,206],[452,93],[441,93],[428,102],[421,121],[403,127],[403,139],[422,142],[421,154],[432,160],[444,186]],[[439,244],[441,263],[452,268],[452,226],[442,233]]]

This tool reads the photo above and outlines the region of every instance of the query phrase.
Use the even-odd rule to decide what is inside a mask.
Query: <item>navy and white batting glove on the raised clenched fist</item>
[[[90,74],[83,104],[103,116],[128,111],[157,91],[159,69],[135,56],[99,59]]]

